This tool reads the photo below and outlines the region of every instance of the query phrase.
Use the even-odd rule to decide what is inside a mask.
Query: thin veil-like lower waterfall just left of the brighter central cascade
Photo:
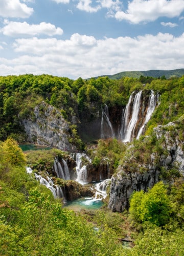
[[[70,172],[68,170],[68,166],[64,159],[62,159],[62,163],[63,163],[63,168],[58,158],[55,157],[53,170],[56,173],[58,178],[61,178],[63,180],[70,180]]]

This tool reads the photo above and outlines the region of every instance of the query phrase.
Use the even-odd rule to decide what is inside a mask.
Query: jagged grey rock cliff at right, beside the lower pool
[[[133,191],[141,189],[147,191],[152,188],[160,179],[160,170],[164,167],[169,171],[173,167],[184,175],[184,153],[183,153],[183,135],[179,139],[178,130],[175,123],[159,125],[154,129],[157,139],[165,152],[159,157],[159,163],[154,163],[155,153],[150,155],[150,163],[142,166],[148,169],[147,172],[128,172],[124,166],[119,167],[118,174],[112,176],[110,185],[110,197],[108,207],[112,211],[123,211],[129,208],[129,199]],[[181,137],[181,136],[180,136]],[[161,142],[162,141],[162,142]],[[172,180],[171,180],[172,181]]]

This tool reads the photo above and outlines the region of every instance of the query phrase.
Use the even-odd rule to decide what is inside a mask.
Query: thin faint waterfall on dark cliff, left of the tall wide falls
[[[114,137],[115,137],[115,134],[113,131],[113,127],[109,120],[108,106],[105,104],[104,109],[102,109],[101,139],[114,138]]]

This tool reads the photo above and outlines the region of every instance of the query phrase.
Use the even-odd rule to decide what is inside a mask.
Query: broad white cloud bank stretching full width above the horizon
[[[184,33],[96,39],[73,34],[68,40],[19,38],[19,57],[0,58],[0,75],[53,74],[70,78],[112,75],[122,71],[183,68]]]

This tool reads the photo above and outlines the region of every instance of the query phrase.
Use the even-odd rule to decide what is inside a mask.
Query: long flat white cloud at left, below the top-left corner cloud
[[[9,22],[8,20],[5,20],[4,24],[6,24],[6,26],[0,29],[0,32],[8,36],[20,37],[25,35],[35,36],[39,34],[53,36],[63,34],[61,28],[56,28],[54,25],[45,22],[30,25],[27,22]]]

